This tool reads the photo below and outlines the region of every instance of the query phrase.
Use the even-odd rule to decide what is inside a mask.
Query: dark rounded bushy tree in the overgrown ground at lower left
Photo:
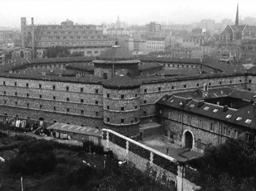
[[[46,140],[29,140],[20,145],[17,156],[10,161],[11,173],[46,173],[56,164],[53,145]]]

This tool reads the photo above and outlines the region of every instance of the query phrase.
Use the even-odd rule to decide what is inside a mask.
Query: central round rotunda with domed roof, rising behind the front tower
[[[139,75],[139,60],[119,45],[102,52],[94,63],[94,75],[110,79],[118,75],[134,77]]]

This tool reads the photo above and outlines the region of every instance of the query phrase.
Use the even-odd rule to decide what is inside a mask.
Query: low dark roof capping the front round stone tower
[[[140,85],[141,80],[132,79],[126,75],[115,76],[102,82],[102,86],[109,89],[135,89]]]

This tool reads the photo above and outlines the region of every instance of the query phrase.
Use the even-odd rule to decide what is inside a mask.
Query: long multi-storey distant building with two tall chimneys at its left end
[[[68,47],[70,52],[83,52],[84,56],[98,56],[114,44],[114,39],[103,35],[102,27],[96,25],[74,25],[66,20],[61,25],[27,25],[21,18],[22,47],[31,48],[33,58],[42,58],[49,47]]]

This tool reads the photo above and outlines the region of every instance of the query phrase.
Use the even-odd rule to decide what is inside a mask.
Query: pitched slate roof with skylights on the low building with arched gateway
[[[157,104],[256,129],[256,106],[254,104],[242,107],[241,109],[228,107],[227,111],[224,111],[223,106],[200,102],[195,99],[188,99],[177,95],[164,95],[157,101]]]

